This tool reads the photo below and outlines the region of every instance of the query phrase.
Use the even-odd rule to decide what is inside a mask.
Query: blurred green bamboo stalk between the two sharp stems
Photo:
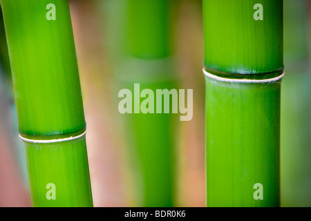
[[[122,42],[116,55],[118,63],[114,64],[117,89],[128,88],[134,95],[134,84],[140,84],[140,90],[149,88],[153,93],[156,89],[176,88],[170,58],[171,1],[123,0],[113,4],[117,4],[120,12],[117,36]],[[134,206],[173,206],[175,116],[133,113],[122,115],[121,119],[131,157]]]

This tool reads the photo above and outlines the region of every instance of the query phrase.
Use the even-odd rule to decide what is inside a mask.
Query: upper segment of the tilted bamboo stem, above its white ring
[[[56,20],[47,20],[54,3]],[[62,137],[84,130],[68,1],[3,0],[19,132]]]

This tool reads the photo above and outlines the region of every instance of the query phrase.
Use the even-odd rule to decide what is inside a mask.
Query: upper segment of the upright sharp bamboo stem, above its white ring
[[[254,20],[254,5],[263,20]],[[225,73],[283,68],[283,0],[203,0],[204,64]]]

